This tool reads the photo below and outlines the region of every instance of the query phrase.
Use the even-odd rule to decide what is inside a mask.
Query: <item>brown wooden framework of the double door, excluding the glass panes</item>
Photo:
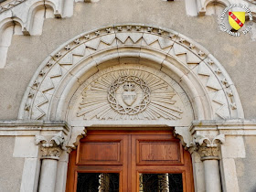
[[[140,174],[182,174],[183,191],[194,191],[190,154],[171,131],[89,131],[69,156],[66,191],[79,173],[118,173],[123,192],[139,191]]]

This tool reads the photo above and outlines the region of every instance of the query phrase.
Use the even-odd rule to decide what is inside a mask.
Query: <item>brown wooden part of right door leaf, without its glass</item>
[[[140,174],[182,174],[183,191],[193,192],[190,154],[171,132],[132,135],[132,190],[139,191]]]

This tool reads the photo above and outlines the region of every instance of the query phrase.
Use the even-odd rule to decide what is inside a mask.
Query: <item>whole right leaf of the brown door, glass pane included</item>
[[[131,179],[131,191],[194,191],[190,154],[170,132],[132,135]]]

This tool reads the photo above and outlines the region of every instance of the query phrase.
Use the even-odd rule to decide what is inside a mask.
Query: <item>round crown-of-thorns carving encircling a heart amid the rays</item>
[[[123,89],[122,87],[123,86]],[[120,89],[121,88],[121,89]],[[117,97],[118,91],[123,91],[122,100]],[[142,98],[138,98],[137,91],[142,91]],[[137,100],[140,100],[138,104],[133,105]],[[112,85],[108,91],[108,101],[111,104],[112,109],[115,112],[121,114],[137,114],[143,112],[150,102],[150,90],[144,80],[136,76],[121,76],[117,80],[112,82]]]

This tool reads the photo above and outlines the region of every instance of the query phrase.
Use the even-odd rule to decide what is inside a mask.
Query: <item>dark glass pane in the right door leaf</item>
[[[182,192],[182,174],[140,174],[140,192]]]

